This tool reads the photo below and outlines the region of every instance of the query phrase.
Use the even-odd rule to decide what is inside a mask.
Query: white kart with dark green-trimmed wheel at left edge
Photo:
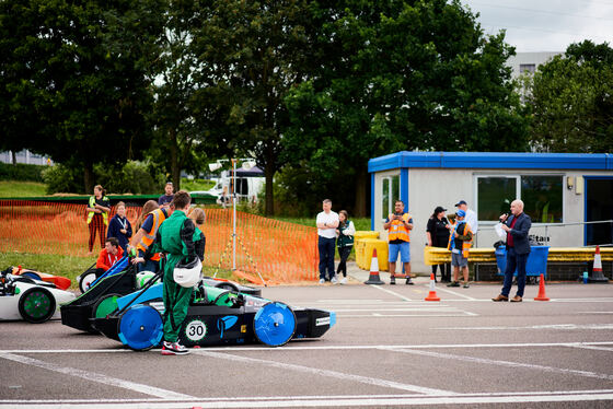
[[[0,320],[45,323],[59,318],[60,304],[74,300],[73,293],[58,289],[53,282],[16,276],[12,271],[13,268],[9,268],[0,273]]]

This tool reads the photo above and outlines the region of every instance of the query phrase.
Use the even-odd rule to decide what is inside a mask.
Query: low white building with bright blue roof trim
[[[397,152],[371,159],[371,230],[386,239],[383,222],[394,200],[412,214],[410,260],[426,272],[426,224],[437,206],[455,212],[466,200],[477,212],[477,247],[499,239],[494,226],[520,198],[532,218],[532,238],[554,247],[611,244],[613,219],[613,154]]]

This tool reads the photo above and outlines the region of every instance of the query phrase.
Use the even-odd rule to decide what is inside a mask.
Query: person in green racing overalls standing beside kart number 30
[[[194,285],[186,285],[185,282],[177,282],[174,270],[180,264],[189,265],[197,261],[200,266],[196,249],[194,247],[195,226],[186,213],[189,211],[192,197],[187,191],[180,190],[174,195],[174,211],[169,219],[160,225],[155,242],[154,252],[162,252],[166,256],[163,276],[163,300],[164,300],[164,341],[162,346],[163,355],[176,355],[189,353],[189,350],[178,343],[178,330],[189,306],[189,299],[194,291]],[[200,272],[198,271],[198,277]],[[183,287],[186,285],[186,287]]]

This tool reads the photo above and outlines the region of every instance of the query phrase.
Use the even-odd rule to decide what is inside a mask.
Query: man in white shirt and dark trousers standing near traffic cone
[[[338,227],[338,213],[332,211],[332,201],[325,199],[322,204],[324,211],[317,214],[317,248],[320,250],[320,284],[326,280],[326,270],[328,279],[336,284],[336,276],[334,273],[334,250],[336,242],[336,227]]]

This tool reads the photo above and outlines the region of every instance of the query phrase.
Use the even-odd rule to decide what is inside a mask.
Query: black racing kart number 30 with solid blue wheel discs
[[[117,299],[117,308],[105,317],[91,318],[92,326],[132,350],[158,347],[163,337],[162,285],[150,281],[142,290]],[[256,342],[280,347],[291,339],[320,338],[335,324],[334,312],[291,308],[200,283],[192,295],[178,341],[185,347]]]

